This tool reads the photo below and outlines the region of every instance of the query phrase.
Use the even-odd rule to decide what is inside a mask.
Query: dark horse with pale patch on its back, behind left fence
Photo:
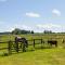
[[[22,42],[21,47],[23,44],[23,51],[26,51],[25,49],[28,48],[28,41],[26,40],[26,38],[15,37],[15,43],[18,44],[18,42]]]

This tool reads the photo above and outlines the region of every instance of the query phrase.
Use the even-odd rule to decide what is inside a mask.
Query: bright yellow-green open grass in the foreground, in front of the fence
[[[41,49],[0,56],[0,65],[65,65],[65,49]]]

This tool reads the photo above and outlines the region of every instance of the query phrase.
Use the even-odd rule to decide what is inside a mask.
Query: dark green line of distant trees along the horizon
[[[35,32],[34,30],[25,30],[25,29],[20,29],[20,28],[15,28],[12,31],[0,32],[0,35],[10,35],[10,34],[22,35],[22,34],[38,34],[38,32]],[[43,32],[41,34],[55,34],[55,32],[53,32],[52,30],[43,30]],[[65,34],[65,32],[57,32],[57,34]]]

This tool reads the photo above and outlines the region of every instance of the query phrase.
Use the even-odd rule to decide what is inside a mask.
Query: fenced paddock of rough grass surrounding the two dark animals
[[[48,44],[48,40],[55,40],[57,41],[57,48],[65,48],[65,43],[63,43],[62,39],[65,39],[65,36],[62,35],[23,35],[21,37],[24,37],[28,41],[28,48],[23,48],[24,46],[22,42],[17,43],[17,47],[15,47],[14,36],[3,36],[0,38],[0,52],[13,54],[13,53],[20,53],[23,52],[23,50],[27,51],[35,51],[39,49],[49,49],[49,48],[55,48],[53,46],[55,44]],[[3,39],[2,39],[3,38]],[[22,47],[21,47],[22,44]],[[51,47],[50,47],[51,46]]]

